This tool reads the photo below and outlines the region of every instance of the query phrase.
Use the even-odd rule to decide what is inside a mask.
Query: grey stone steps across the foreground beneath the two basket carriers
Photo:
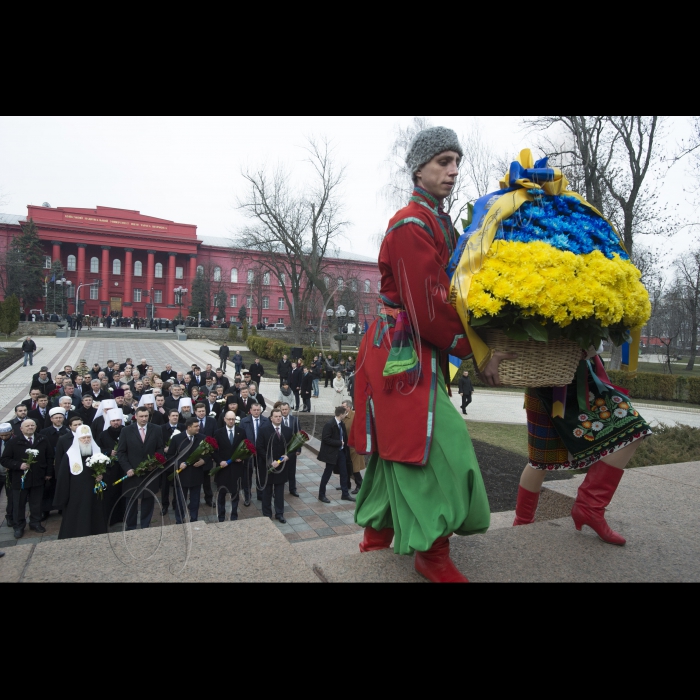
[[[570,501],[579,483],[549,488]],[[513,514],[504,513],[485,535],[453,538],[452,555],[474,583],[696,582],[698,506],[699,462],[636,469],[626,474],[608,516],[627,547],[606,545],[587,529],[577,533],[570,518],[512,528]],[[0,561],[0,582],[425,582],[412,558],[359,554],[361,539],[358,533],[290,544],[263,518],[152,528],[14,547]]]

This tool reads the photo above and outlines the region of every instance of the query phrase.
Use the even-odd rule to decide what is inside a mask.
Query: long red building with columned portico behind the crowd
[[[0,253],[29,218],[34,220],[44,243],[47,273],[52,262],[60,260],[71,282],[71,313],[75,311],[77,287],[101,281],[101,287],[86,286],[80,291],[86,314],[101,316],[118,311],[128,317],[147,318],[152,296],[155,317],[174,319],[180,311],[175,289],[183,287],[190,292],[183,299],[186,315],[195,276],[202,268],[210,271],[216,283],[221,282],[227,294],[227,320],[236,318],[246,304],[253,320],[260,316],[266,323],[289,324],[288,303],[279,280],[263,275],[255,293],[251,289],[251,268],[255,267],[257,254],[236,250],[226,239],[198,236],[195,225],[110,207],[29,206],[27,216],[0,214]],[[376,259],[341,253],[329,263],[329,275],[340,290],[347,281],[358,292],[358,307],[362,308],[356,311],[360,321],[371,321],[377,311],[380,279]],[[316,323],[318,319],[304,321]]]

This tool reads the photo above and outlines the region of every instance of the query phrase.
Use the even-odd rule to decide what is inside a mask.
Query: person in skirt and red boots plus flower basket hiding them
[[[651,312],[641,275],[613,225],[529,150],[467,223],[448,268],[451,301],[480,370],[496,349],[519,354],[486,383],[527,387],[530,461],[514,525],[535,521],[548,472],[589,469],[572,512],[576,528],[622,546],[605,509],[651,430],[610,383],[598,349],[604,340],[624,345],[636,371]]]

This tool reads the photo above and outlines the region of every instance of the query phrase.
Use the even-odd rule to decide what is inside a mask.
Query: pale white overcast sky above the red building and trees
[[[465,133],[479,120],[499,152],[514,157],[535,145],[522,117],[428,117]],[[97,205],[196,224],[203,236],[235,237],[246,165],[282,163],[303,182],[307,135],[326,136],[347,166],[345,250],[374,255],[373,237],[393,214],[380,191],[398,125],[413,117],[0,117],[0,211],[26,214],[27,204]],[[688,133],[687,117],[670,117],[667,142]],[[660,181],[662,198],[681,217],[694,211],[683,192],[683,167]],[[497,183],[494,181],[494,189]],[[690,232],[643,243],[687,249]]]

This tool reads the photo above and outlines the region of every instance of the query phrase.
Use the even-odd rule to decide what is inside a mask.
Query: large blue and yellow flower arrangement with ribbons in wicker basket
[[[501,184],[465,226],[451,301],[481,368],[494,350],[513,350],[521,370],[532,358],[538,367],[508,383],[561,386],[582,349],[629,342],[649,319],[649,296],[612,224],[546,160],[523,151]]]

